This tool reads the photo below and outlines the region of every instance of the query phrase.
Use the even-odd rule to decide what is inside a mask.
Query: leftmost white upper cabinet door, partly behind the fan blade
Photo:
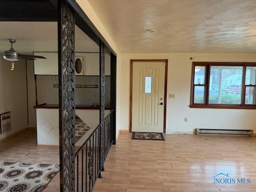
[[[46,59],[34,60],[35,75],[58,75],[58,53],[37,52],[36,55],[44,56]]]

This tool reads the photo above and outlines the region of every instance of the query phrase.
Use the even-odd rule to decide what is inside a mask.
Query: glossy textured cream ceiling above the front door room
[[[255,0],[88,2],[121,53],[256,52]]]

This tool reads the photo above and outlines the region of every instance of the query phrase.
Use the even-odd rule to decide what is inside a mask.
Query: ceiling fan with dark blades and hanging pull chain
[[[0,52],[0,54],[3,54],[3,57],[5,60],[11,61],[11,64],[12,64],[11,70],[14,70],[14,61],[18,61],[18,60],[20,60],[20,58],[24,58],[27,60],[35,60],[36,58],[46,59],[43,56],[20,54],[19,52],[16,52],[13,48],[13,44],[16,42],[16,40],[8,39],[8,42],[11,43],[11,48],[4,52]]]

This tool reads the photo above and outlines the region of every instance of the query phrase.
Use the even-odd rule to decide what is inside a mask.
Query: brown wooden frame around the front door
[[[132,68],[134,62],[165,62],[165,74],[164,74],[164,130],[166,133],[166,100],[167,100],[167,77],[168,77],[168,59],[131,59],[130,60],[130,123],[129,132],[132,132]]]

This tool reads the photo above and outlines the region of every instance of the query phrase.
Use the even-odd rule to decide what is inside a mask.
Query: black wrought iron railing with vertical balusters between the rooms
[[[102,126],[104,126],[103,129],[101,129]],[[104,170],[102,162],[105,162],[114,139],[112,137],[112,128],[113,110],[111,110],[108,116],[104,119],[104,125],[99,124],[92,134],[90,134],[88,139],[76,151],[76,192],[92,192],[97,179],[101,177],[101,171]],[[104,131],[101,132],[101,130]],[[104,150],[100,150],[102,148]]]

